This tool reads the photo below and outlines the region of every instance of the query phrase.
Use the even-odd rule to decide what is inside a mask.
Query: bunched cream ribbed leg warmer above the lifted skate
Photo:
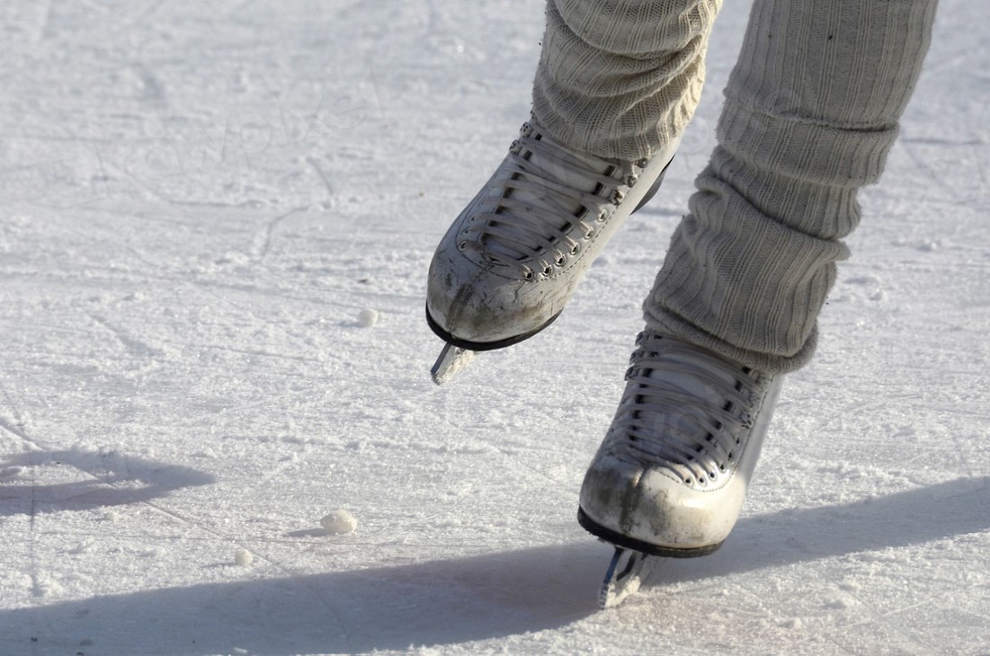
[[[533,114],[560,141],[635,160],[680,135],[722,0],[547,0]]]

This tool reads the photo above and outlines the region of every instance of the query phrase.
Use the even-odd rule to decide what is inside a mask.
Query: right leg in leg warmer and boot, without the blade
[[[581,521],[632,548],[712,551],[740,513],[782,373],[880,175],[935,0],[755,0],[719,145],[646,300]]]

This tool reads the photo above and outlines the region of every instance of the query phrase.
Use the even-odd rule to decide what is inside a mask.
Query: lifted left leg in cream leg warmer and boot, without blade
[[[719,2],[548,2],[534,120],[431,263],[427,319],[438,335],[500,348],[563,310],[673,156]]]

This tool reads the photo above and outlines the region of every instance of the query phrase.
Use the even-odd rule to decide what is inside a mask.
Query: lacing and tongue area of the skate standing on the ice
[[[673,337],[640,334],[610,434],[621,457],[707,488],[736,466],[768,377]]]

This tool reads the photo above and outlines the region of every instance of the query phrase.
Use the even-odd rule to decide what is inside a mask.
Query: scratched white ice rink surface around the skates
[[[736,532],[596,609],[578,486],[747,11],[561,319],[437,388],[427,265],[541,2],[5,0],[0,652],[990,653],[982,0],[942,0]]]

